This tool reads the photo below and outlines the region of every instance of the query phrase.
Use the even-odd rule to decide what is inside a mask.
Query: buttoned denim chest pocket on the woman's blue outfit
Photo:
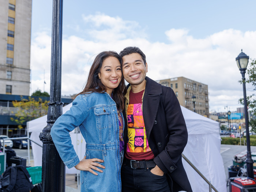
[[[96,116],[96,126],[98,129],[111,127],[111,112],[109,107],[94,108],[94,114]]]

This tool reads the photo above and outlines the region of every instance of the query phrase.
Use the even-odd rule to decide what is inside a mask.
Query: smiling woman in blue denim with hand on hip
[[[53,142],[64,164],[80,172],[81,191],[121,191],[125,84],[122,58],[113,51],[97,55],[84,90],[51,129]],[[69,132],[80,128],[86,154],[79,161]],[[121,156],[121,157],[120,157]]]

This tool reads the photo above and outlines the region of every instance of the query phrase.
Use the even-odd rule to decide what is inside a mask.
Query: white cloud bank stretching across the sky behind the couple
[[[148,76],[154,80],[184,76],[208,84],[210,110],[224,111],[239,106],[243,97],[241,79],[235,58],[241,52],[256,58],[256,31],[227,29],[196,39],[187,29],[165,32],[170,43],[150,42],[139,23],[97,13],[83,16],[90,38],[63,37],[62,94],[82,90],[94,57],[104,50],[118,53],[126,46],[138,46],[148,63]],[[83,25],[78,27],[85,28]],[[164,34],[164,32],[163,32]],[[45,90],[50,86],[51,37],[38,33],[31,44],[32,92],[42,90],[45,69]],[[250,92],[248,92],[249,95]]]

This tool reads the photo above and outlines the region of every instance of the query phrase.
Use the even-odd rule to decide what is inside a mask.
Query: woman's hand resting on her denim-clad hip
[[[94,172],[94,170],[98,171],[98,172],[103,172],[101,169],[99,169],[98,167],[105,169],[105,166],[99,164],[99,163],[95,163],[95,161],[98,162],[104,162],[102,159],[97,159],[97,158],[93,158],[93,159],[86,159],[86,156],[75,166],[76,169],[81,170],[81,171],[89,171],[95,175],[98,175],[98,173]]]

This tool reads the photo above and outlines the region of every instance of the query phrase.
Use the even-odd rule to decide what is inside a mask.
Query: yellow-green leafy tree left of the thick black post
[[[47,114],[48,102],[42,101],[41,98],[35,101],[32,97],[29,97],[29,99],[22,98],[21,101],[12,101],[13,106],[18,110],[15,113],[15,118],[11,117],[11,120],[17,123],[18,128],[21,129],[22,124],[26,121],[31,121]]]

